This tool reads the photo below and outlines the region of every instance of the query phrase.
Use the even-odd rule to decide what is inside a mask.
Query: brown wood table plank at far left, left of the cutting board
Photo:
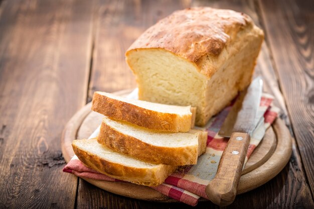
[[[0,17],[0,207],[74,208],[60,137],[87,97],[91,1],[4,1]]]

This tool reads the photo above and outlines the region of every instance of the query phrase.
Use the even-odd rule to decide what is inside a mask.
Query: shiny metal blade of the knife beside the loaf
[[[218,135],[230,137],[233,132],[252,134],[259,118],[256,118],[263,90],[260,77],[254,79],[250,86],[242,91],[232,106]]]

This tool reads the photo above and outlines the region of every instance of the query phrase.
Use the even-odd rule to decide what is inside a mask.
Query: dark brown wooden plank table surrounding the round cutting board
[[[95,90],[134,88],[124,52],[174,10],[250,15],[266,41],[256,75],[291,130],[290,162],[229,208],[314,208],[314,3],[311,0],[0,0],[0,208],[190,208],[101,190],[69,173],[60,137]],[[196,208],[216,208],[200,202]]]

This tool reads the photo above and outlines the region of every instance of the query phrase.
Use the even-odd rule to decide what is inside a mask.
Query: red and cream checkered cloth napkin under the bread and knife
[[[136,93],[132,92],[128,97],[136,98]],[[279,109],[271,105],[272,100],[273,97],[271,95],[265,93],[262,95],[256,117],[256,121],[261,122],[259,122],[259,125],[254,130],[251,137],[245,157],[245,163],[255,147],[262,140],[265,130],[278,115]],[[175,173],[166,179],[165,183],[152,188],[173,199],[193,206],[197,204],[200,197],[207,198],[205,187],[215,177],[220,157],[228,142],[228,138],[220,137],[217,133],[230,109],[231,106],[226,107],[216,117],[213,117],[205,126],[208,131],[207,148],[206,152],[199,157],[197,164],[181,166]],[[261,120],[262,118],[263,120]],[[95,130],[90,138],[97,136],[98,132],[99,128]],[[63,171],[84,178],[104,181],[120,181],[86,167],[77,156],[74,156],[69,161]]]

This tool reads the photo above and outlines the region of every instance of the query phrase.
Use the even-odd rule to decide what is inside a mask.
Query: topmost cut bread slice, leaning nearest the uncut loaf
[[[145,128],[170,132],[189,131],[194,127],[196,112],[191,106],[126,99],[106,92],[94,93],[92,110]]]

